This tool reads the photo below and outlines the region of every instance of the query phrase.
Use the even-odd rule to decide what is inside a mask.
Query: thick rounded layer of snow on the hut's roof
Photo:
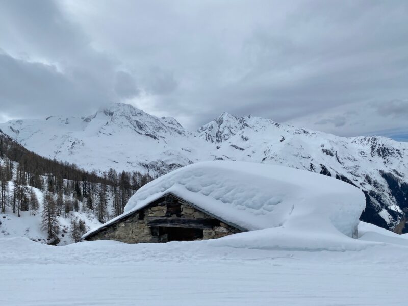
[[[168,193],[250,231],[282,227],[331,232],[336,228],[353,237],[365,207],[363,192],[328,176],[277,165],[211,161],[177,169],[146,184],[129,199],[122,215],[102,226]]]

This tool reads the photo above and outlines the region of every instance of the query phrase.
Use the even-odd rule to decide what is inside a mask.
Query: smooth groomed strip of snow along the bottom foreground
[[[161,263],[1,266],[2,305],[405,305],[406,269]],[[12,277],[11,277],[12,276]],[[22,289],[24,288],[24,289]]]

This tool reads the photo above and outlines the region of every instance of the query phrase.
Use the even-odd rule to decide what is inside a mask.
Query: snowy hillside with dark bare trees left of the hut
[[[148,181],[140,173],[88,173],[39,156],[0,131],[0,238],[78,241],[121,214],[127,199]]]

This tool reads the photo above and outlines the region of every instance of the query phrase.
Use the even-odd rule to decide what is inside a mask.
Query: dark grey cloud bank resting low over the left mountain
[[[109,96],[87,75],[68,78],[52,65],[30,63],[0,54],[2,112],[13,117],[75,114],[91,111]]]

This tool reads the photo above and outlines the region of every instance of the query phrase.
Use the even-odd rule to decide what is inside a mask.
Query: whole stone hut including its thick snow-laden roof
[[[123,214],[82,239],[190,241],[291,226],[329,226],[355,237],[364,207],[358,188],[328,176],[277,165],[201,162],[146,184]]]

